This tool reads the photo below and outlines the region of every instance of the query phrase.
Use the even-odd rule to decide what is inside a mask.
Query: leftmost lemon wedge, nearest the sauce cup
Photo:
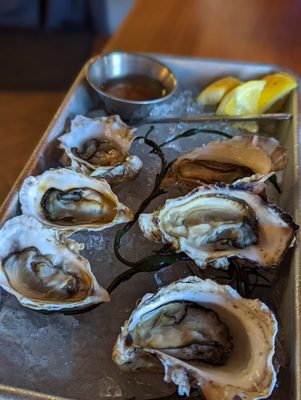
[[[232,78],[232,76],[219,79],[207,86],[198,95],[196,101],[205,106],[216,106],[226,93],[238,86],[240,83],[241,82],[238,79]]]

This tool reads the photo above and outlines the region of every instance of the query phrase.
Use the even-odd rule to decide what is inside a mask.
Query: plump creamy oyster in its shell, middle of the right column
[[[294,244],[298,226],[256,194],[262,187],[200,186],[152,214],[141,214],[139,226],[146,238],[185,252],[201,268],[208,263],[225,268],[232,257],[273,267]]]

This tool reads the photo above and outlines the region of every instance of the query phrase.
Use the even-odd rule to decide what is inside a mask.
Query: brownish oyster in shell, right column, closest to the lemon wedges
[[[286,158],[286,149],[274,138],[235,136],[183,154],[172,164],[162,186],[172,182],[196,187],[203,183],[264,180],[283,170]]]

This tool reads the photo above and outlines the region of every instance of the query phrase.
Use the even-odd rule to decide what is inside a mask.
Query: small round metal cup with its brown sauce
[[[126,120],[138,108],[168,99],[177,86],[166,65],[136,53],[112,52],[92,58],[86,67],[86,79],[105,110]]]

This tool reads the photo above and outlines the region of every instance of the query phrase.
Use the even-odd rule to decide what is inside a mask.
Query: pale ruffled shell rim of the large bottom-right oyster
[[[222,384],[218,384],[216,382],[213,383],[212,381],[214,379],[212,379],[212,377],[209,380],[207,379],[207,383],[206,383],[206,377],[204,378],[200,375],[200,373],[198,372],[198,367],[191,366],[190,364],[188,364],[188,362],[176,359],[175,357],[167,355],[164,352],[156,350],[156,349],[147,349],[147,348],[140,349],[140,348],[137,348],[135,345],[132,345],[132,343],[126,343],[126,338],[127,338],[128,332],[130,331],[132,326],[135,325],[134,317],[138,319],[139,312],[140,312],[140,314],[142,314],[143,308],[146,308],[147,311],[149,311],[152,307],[158,307],[158,304],[161,304],[161,305],[165,304],[163,300],[160,300],[160,297],[161,297],[161,299],[163,298],[163,295],[165,297],[167,297],[168,294],[172,293],[172,292],[175,293],[176,299],[180,299],[181,298],[180,296],[181,295],[183,296],[183,290],[185,290],[183,287],[181,288],[181,286],[185,286],[185,285],[189,286],[189,285],[194,285],[194,284],[196,284],[196,286],[208,286],[209,285],[209,286],[211,286],[211,291],[209,291],[209,293],[214,294],[215,291],[220,290],[222,292],[221,295],[224,294],[226,297],[230,297],[231,299],[233,299],[233,302],[235,300],[242,301],[244,303],[244,305],[246,305],[247,307],[250,307],[250,310],[252,312],[262,312],[263,314],[268,316],[269,322],[271,323],[270,329],[273,333],[270,336],[270,341],[272,344],[271,344],[271,347],[268,348],[268,350],[270,349],[270,353],[268,353],[268,355],[266,357],[266,368],[271,376],[271,379],[270,379],[270,381],[268,380],[267,383],[266,383],[266,380],[264,380],[264,383],[267,385],[267,388],[262,389],[262,390],[265,390],[264,393],[255,393],[254,394],[253,392],[250,392],[251,394],[248,396],[246,396],[244,393],[244,396],[246,396],[246,397],[243,397],[246,400],[266,398],[274,390],[274,387],[275,387],[275,384],[277,381],[277,372],[273,365],[273,356],[275,354],[275,339],[276,339],[276,335],[278,333],[277,319],[276,319],[274,313],[269,309],[269,307],[265,303],[260,301],[259,299],[243,298],[231,286],[218,284],[211,279],[201,279],[196,276],[189,276],[184,279],[180,279],[178,281],[172,282],[169,285],[163,286],[163,287],[159,288],[155,293],[147,293],[146,295],[144,295],[143,298],[138,303],[138,305],[136,305],[134,310],[132,310],[132,313],[131,313],[129,319],[126,320],[124,322],[124,325],[121,327],[121,333],[119,334],[117,340],[115,341],[114,348],[113,348],[113,354],[112,354],[113,361],[118,365],[119,368],[121,368],[122,370],[125,370],[125,371],[130,370],[130,371],[135,372],[136,370],[140,370],[142,368],[143,370],[144,369],[147,369],[147,370],[152,369],[153,371],[156,372],[158,370],[156,369],[156,367],[153,368],[154,365],[153,365],[152,359],[148,358],[149,356],[147,356],[148,354],[153,355],[153,356],[155,356],[157,361],[159,361],[164,367],[164,380],[166,382],[173,382],[176,385],[178,385],[179,386],[178,390],[179,390],[180,395],[186,394],[186,396],[189,396],[189,391],[190,391],[191,387],[196,387],[197,389],[201,390],[202,393],[204,393],[206,395],[206,398],[208,398],[208,400],[215,400],[217,398],[232,400],[233,398],[235,398],[235,395],[241,395],[241,393],[242,393],[241,388],[239,389],[239,392],[236,392],[236,393],[231,392],[231,394],[229,394],[231,385],[222,385]],[[168,293],[164,293],[166,291]],[[195,292],[195,293],[197,293],[197,292]],[[199,290],[199,293],[201,293],[201,290]],[[189,299],[191,300],[191,297]],[[173,298],[173,301],[174,300],[175,300],[175,298]],[[226,300],[225,302],[227,302],[227,301],[228,300]],[[208,300],[207,300],[207,302],[208,302]],[[153,303],[155,303],[155,306]],[[202,304],[202,302],[200,302],[199,304]],[[233,307],[234,310],[235,310],[235,308],[237,308],[237,306]],[[234,311],[234,312],[236,312],[236,311]],[[138,316],[135,314],[138,314]],[[224,321],[221,314],[218,314],[218,315]],[[262,317],[262,321],[264,323],[266,323],[266,318]],[[259,329],[259,331],[261,331],[261,329]],[[230,330],[230,332],[231,332],[231,330]],[[255,341],[254,341],[254,343],[255,343]],[[123,354],[123,351],[124,351],[125,355]],[[146,353],[146,358],[145,358],[145,360],[141,359],[141,363],[139,363],[139,357],[143,358],[143,353]],[[133,367],[133,363],[135,362],[135,357],[137,357],[137,359],[138,359],[138,369]],[[144,361],[145,361],[145,363],[144,363]],[[157,361],[155,361],[155,362],[157,362]],[[258,373],[256,373],[256,371],[254,373],[255,373],[255,375],[257,374],[257,376],[258,376]],[[208,384],[208,382],[209,382],[209,384]],[[219,397],[220,396],[219,385],[221,387],[225,386],[225,388],[226,388],[225,391],[227,391],[228,397],[226,395],[225,395],[225,397]],[[257,386],[257,384],[253,385],[253,387],[255,387],[255,388],[256,388],[256,386]],[[234,391],[235,391],[235,389],[237,389],[237,387],[234,388]]]

